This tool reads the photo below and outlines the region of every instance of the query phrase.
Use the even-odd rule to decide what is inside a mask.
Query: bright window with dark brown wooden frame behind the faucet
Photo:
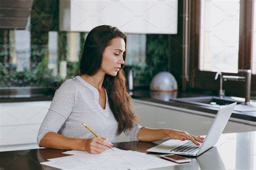
[[[245,76],[239,69],[251,69],[251,95],[256,96],[255,1],[188,1],[189,89],[211,91],[218,95],[217,71],[223,75]],[[253,14],[254,13],[254,14]],[[255,25],[255,22],[254,22]],[[254,34],[254,35],[253,35]],[[254,39],[253,39],[254,36]],[[246,86],[238,81],[223,83],[227,96],[244,97]]]

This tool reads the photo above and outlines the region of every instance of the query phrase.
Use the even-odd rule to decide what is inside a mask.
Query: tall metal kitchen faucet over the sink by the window
[[[252,70],[244,70],[239,69],[238,72],[244,72],[245,76],[222,76],[221,72],[217,72],[215,75],[215,80],[218,79],[218,76],[220,75],[220,91],[219,96],[220,98],[223,98],[225,96],[225,91],[223,90],[223,81],[244,81],[245,82],[245,91],[244,91],[244,97],[245,97],[245,104],[250,104],[251,100],[251,76],[252,76]]]

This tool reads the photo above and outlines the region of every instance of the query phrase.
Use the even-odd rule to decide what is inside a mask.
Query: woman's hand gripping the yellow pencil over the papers
[[[112,147],[113,144],[109,142],[106,138],[97,138],[93,137],[90,139],[84,139],[85,140],[85,151],[92,153],[92,154],[98,154],[104,152],[106,149],[109,149],[108,146]]]

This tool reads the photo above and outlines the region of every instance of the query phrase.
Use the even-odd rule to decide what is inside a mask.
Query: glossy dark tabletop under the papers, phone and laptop
[[[146,153],[163,141],[157,142],[118,142],[113,147]],[[50,158],[66,157],[66,150],[29,149],[21,151],[0,152],[0,169],[56,169],[41,165],[40,162]],[[148,153],[156,157],[160,154]],[[199,157],[191,158],[189,164],[158,169],[256,169],[256,131],[222,134],[217,144]]]

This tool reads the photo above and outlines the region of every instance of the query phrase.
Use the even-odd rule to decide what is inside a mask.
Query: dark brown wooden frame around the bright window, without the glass
[[[238,54],[238,69],[251,69],[252,59],[252,30],[253,30],[253,1],[240,1],[239,13],[239,54]],[[217,92],[219,90],[219,81],[214,80],[215,73],[212,71],[199,70],[200,56],[200,23],[201,23],[201,0],[189,1],[189,81],[187,86],[189,89],[210,90]],[[245,76],[244,73],[227,73],[223,75]],[[224,90],[228,93],[227,96],[239,96],[237,91],[239,85],[233,81],[226,81],[225,85],[228,89]],[[252,74],[251,81],[251,96],[256,96],[256,74]]]

